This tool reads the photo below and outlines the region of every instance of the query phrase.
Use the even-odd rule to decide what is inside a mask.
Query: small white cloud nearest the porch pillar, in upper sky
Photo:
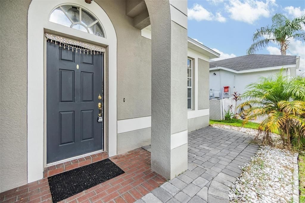
[[[192,8],[188,8],[188,19],[189,20],[216,20],[219,22],[225,22],[226,19],[221,15],[220,12],[216,13],[216,16],[205,8],[202,7],[202,5],[194,4]]]

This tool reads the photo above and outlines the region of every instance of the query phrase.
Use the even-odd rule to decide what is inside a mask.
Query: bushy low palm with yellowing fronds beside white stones
[[[278,131],[283,144],[290,148],[291,140],[300,146],[305,137],[305,78],[289,80],[282,73],[283,70],[249,84],[243,94],[247,101],[239,107],[244,109],[244,123],[258,117],[264,119],[258,128],[264,134],[263,144],[272,144],[270,133]]]

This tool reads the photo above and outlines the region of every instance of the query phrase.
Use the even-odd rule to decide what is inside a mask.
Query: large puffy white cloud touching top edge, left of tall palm
[[[273,6],[276,6],[275,0],[266,0],[266,2],[258,0],[245,0],[244,2],[231,0],[225,6],[225,9],[230,13],[231,19],[253,24],[261,17],[269,17]]]

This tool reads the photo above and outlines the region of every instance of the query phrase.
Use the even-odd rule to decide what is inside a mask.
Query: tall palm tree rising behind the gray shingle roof
[[[265,48],[270,42],[278,44],[281,55],[286,55],[289,40],[296,39],[305,41],[305,15],[289,20],[284,15],[277,13],[272,16],[272,26],[261,27],[253,34],[253,44],[247,50],[247,54],[253,54],[259,49]]]

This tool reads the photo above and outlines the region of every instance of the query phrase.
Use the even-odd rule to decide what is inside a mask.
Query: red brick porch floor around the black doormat
[[[150,153],[142,148],[110,160],[125,173],[61,202],[134,202],[166,181],[150,169]],[[48,179],[2,192],[0,202],[52,202]]]

